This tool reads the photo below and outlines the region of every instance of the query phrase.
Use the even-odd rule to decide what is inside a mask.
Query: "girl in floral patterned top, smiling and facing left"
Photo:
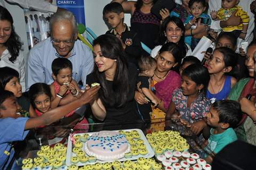
[[[200,64],[186,67],[182,73],[181,88],[172,94],[172,101],[166,115],[166,125],[171,116],[179,114],[181,122],[198,134],[206,126],[203,118],[209,112],[211,102],[205,97],[210,75]],[[176,111],[176,112],[175,112]],[[177,113],[178,112],[178,113]]]

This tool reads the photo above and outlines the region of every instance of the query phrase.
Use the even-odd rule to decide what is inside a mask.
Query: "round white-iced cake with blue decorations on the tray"
[[[124,134],[114,131],[100,131],[92,134],[84,145],[89,156],[99,160],[120,159],[130,151]]]

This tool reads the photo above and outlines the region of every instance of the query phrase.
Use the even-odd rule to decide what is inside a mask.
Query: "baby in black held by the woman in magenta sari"
[[[148,104],[138,104],[136,106],[136,111],[142,116],[143,120],[150,120],[150,115],[152,112],[151,103],[157,106],[159,103],[158,97],[151,91],[150,84],[151,78],[154,76],[156,69],[156,61],[151,56],[141,56],[138,60],[139,74],[136,80],[138,84],[138,90],[141,89],[145,95],[145,99]]]

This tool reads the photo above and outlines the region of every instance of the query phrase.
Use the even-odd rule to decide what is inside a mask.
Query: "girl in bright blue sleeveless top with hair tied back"
[[[236,83],[236,79],[230,76],[234,73],[236,65],[237,56],[232,49],[220,47],[214,50],[207,65],[210,82],[206,96],[211,100],[211,103],[227,98]]]

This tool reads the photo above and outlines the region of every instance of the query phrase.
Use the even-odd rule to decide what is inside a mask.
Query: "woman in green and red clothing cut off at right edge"
[[[242,120],[238,124],[238,127],[234,129],[237,138],[239,140],[251,143],[252,145],[256,145],[256,111],[255,107],[252,107],[252,105],[254,105],[256,102],[255,58],[256,42],[252,41],[252,43],[247,48],[245,60],[245,65],[249,71],[250,77],[238,81],[228,95],[228,99],[239,101],[241,103],[242,111],[246,113],[243,114]],[[249,95],[251,96],[251,101],[246,99]]]

